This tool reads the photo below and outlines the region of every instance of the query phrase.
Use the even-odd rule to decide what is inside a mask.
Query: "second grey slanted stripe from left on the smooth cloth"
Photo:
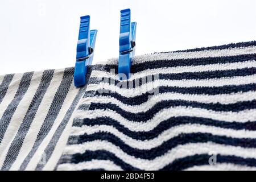
[[[6,129],[9,126],[11,118],[13,117],[13,114],[18,107],[19,102],[22,100],[24,94],[27,92],[27,89],[30,86],[32,75],[33,72],[23,74],[13,101],[11,101],[11,103],[7,106],[7,109],[3,113],[3,116],[0,120],[0,143],[5,136]]]

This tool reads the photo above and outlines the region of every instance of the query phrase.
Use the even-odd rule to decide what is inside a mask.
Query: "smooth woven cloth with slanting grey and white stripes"
[[[73,68],[0,76],[1,170],[54,169],[82,89]]]

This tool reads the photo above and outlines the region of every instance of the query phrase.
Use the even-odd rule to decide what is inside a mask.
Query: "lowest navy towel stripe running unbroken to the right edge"
[[[115,146],[121,148],[123,152],[135,158],[141,159],[155,159],[158,156],[165,154],[167,151],[171,150],[178,145],[188,144],[188,143],[206,143],[213,142],[217,144],[224,144],[229,146],[240,146],[245,148],[255,148],[256,139],[253,138],[232,138],[225,136],[213,135],[210,133],[189,133],[189,134],[179,134],[177,137],[171,138],[166,142],[160,144],[160,146],[151,148],[150,150],[140,150],[138,148],[133,148],[123,142],[121,139],[116,137],[114,134],[107,132],[98,132],[91,135],[79,135],[71,136],[68,139],[68,144],[81,144],[85,142],[92,142],[94,140],[106,140],[113,143]]]

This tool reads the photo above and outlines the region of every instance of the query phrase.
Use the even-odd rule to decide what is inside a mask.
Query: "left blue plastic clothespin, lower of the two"
[[[92,64],[96,36],[97,30],[90,30],[90,16],[81,16],[74,73],[76,87],[85,85],[87,65]]]

